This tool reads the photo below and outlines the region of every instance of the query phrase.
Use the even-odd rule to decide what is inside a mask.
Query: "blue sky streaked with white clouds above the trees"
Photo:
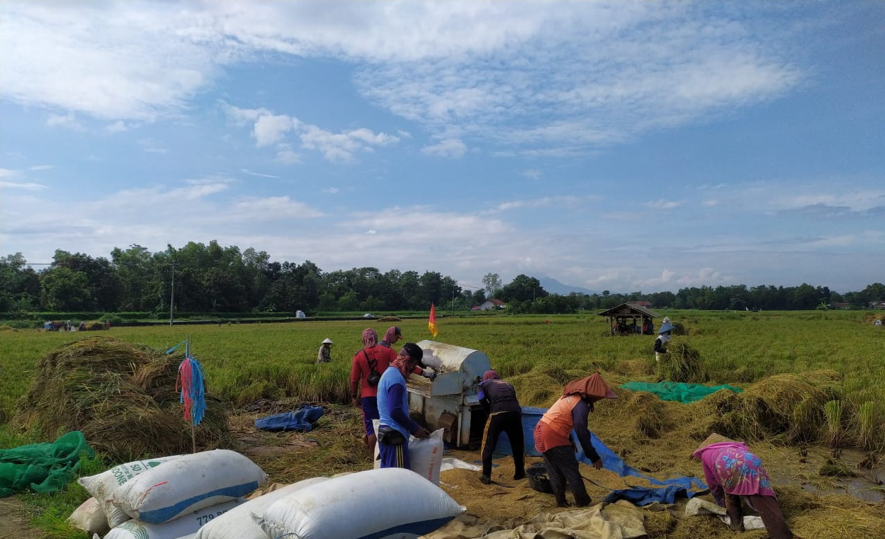
[[[0,3],[0,255],[885,280],[881,2]]]

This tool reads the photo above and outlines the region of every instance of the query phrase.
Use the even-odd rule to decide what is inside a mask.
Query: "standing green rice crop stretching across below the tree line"
[[[843,375],[839,389],[850,403],[885,402],[885,330],[868,323],[864,312],[667,314],[685,328],[681,342],[699,353],[711,384],[745,386],[772,374],[831,369]],[[409,341],[430,338],[425,320],[396,324]],[[189,336],[192,350],[204,364],[209,391],[232,404],[260,397],[343,402],[350,359],[361,348],[360,332],[374,327],[383,335],[389,325],[360,320],[113,327],[101,335],[164,350]],[[604,319],[594,315],[441,317],[439,327],[437,340],[486,352],[504,378],[546,366],[612,373],[630,363],[654,363],[653,337],[604,336]],[[99,334],[0,332],[4,414],[26,393],[43,355],[84,335]],[[335,342],[333,362],[316,366],[319,343],[327,337]]]

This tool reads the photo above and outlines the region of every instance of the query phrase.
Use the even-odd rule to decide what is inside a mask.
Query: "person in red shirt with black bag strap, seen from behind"
[[[390,364],[389,348],[378,345],[378,334],[371,327],[363,330],[363,349],[353,356],[350,365],[350,402],[362,409],[366,434],[363,443],[375,446],[373,420],[378,419],[378,381]]]

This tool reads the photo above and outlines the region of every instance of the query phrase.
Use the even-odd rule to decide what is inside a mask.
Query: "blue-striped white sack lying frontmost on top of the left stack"
[[[117,489],[113,504],[134,519],[159,524],[217,505],[267,484],[267,474],[231,450],[184,455]]]

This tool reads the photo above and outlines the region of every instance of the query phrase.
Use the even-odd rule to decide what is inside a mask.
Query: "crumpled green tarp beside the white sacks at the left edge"
[[[0,497],[28,488],[37,492],[63,489],[77,476],[83,452],[89,457],[96,454],[79,430],[52,443],[32,443],[0,450]]]

